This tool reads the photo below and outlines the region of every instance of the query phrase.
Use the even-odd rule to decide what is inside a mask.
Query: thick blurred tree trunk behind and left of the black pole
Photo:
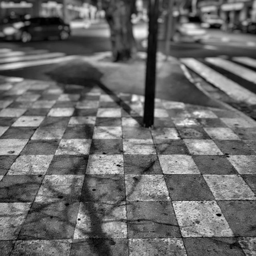
[[[131,15],[135,0],[104,1],[103,9],[110,26],[113,60],[128,60],[136,53],[136,42],[132,32]]]

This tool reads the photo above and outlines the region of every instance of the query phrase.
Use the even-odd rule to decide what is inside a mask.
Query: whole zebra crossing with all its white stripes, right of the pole
[[[223,57],[209,57],[202,60],[180,58],[180,61],[204,80],[222,90],[230,98],[249,105],[256,104],[256,94],[254,93],[256,92],[255,59],[249,57],[232,57],[227,60]],[[224,71],[223,74],[219,72],[219,69]],[[228,76],[227,72],[239,79]]]

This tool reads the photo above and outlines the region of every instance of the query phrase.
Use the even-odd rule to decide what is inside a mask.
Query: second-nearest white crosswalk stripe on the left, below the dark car
[[[46,59],[46,58],[57,58],[65,56],[62,52],[50,52],[45,54],[36,54],[36,55],[25,55],[25,56],[14,56],[14,57],[6,57],[6,58],[0,58],[0,64],[3,63],[10,63],[10,62],[20,62],[20,61],[26,61],[26,60],[40,60],[40,59]]]

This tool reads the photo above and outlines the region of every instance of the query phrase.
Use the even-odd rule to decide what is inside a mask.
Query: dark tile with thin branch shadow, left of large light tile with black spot
[[[127,202],[128,238],[181,237],[172,202]]]

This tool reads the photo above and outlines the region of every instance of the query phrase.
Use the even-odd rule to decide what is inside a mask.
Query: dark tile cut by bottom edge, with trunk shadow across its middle
[[[128,239],[74,240],[70,256],[128,256]]]

